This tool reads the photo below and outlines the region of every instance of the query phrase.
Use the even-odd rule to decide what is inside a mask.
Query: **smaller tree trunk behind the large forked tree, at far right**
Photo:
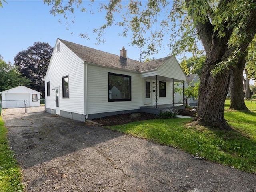
[[[245,56],[243,54],[241,58],[238,59],[236,66],[231,69],[231,79],[230,79],[230,108],[235,110],[248,110],[244,103],[244,86],[243,86],[243,72],[245,66]]]

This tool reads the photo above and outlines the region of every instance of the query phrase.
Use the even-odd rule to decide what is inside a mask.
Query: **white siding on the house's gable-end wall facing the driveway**
[[[54,49],[45,82],[50,81],[50,96],[46,97],[46,108],[56,109],[56,94],[52,89],[59,87],[60,110],[84,114],[84,66],[62,42],[60,52]],[[69,98],[62,98],[62,77],[68,76]],[[46,86],[47,89],[47,86]],[[47,90],[46,90],[47,91]]]

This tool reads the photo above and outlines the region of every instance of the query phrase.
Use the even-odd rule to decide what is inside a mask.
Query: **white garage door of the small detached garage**
[[[24,107],[24,100],[28,100],[29,94],[6,94],[5,108],[20,108]],[[3,104],[4,104],[3,103]]]

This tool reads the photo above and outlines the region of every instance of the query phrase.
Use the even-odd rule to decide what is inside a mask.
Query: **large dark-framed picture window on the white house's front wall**
[[[131,76],[108,73],[108,101],[131,101]]]

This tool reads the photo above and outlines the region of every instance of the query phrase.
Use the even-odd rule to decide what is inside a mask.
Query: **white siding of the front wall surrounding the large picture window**
[[[131,101],[108,101],[108,72],[131,76]],[[88,65],[89,114],[139,109],[143,106],[142,82],[138,73]]]

